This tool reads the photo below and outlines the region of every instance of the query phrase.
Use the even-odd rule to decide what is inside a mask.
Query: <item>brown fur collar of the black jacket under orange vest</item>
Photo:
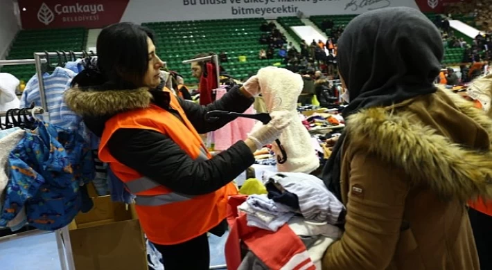
[[[81,116],[111,116],[132,109],[144,109],[155,103],[169,107],[170,93],[156,89],[96,90],[71,88],[65,91],[67,106]]]

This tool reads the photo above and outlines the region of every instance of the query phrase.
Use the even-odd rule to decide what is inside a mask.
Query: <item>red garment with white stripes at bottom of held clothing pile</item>
[[[238,269],[241,263],[240,241],[272,270],[315,270],[306,246],[290,227],[285,224],[279,231],[272,232],[247,226],[246,215],[238,216],[238,206],[247,196],[236,195],[229,199],[227,222],[231,229],[225,243],[227,269]]]

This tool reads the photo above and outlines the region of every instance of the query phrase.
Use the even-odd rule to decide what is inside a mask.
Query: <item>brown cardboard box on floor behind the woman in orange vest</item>
[[[69,226],[76,270],[147,270],[146,242],[132,208],[109,196],[93,200],[94,208]]]

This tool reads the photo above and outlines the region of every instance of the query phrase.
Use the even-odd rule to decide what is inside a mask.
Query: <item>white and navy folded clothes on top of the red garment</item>
[[[295,215],[307,221],[339,224],[345,207],[321,179],[302,172],[264,174],[268,195],[252,195],[238,207],[247,225],[277,231]]]

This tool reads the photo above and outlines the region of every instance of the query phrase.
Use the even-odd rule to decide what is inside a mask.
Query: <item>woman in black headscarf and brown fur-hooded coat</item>
[[[492,121],[434,87],[439,30],[411,8],[366,12],[337,56],[349,106],[323,179],[347,211],[323,269],[480,269],[466,200],[492,197]]]

